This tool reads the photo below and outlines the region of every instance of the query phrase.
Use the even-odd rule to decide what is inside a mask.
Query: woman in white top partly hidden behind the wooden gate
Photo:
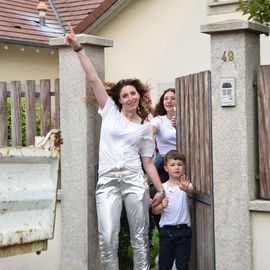
[[[163,157],[170,151],[176,150],[176,118],[175,118],[175,89],[169,88],[161,95],[154,109],[154,118],[150,122],[155,134],[158,151],[155,166],[162,183],[169,179],[164,170]],[[150,186],[150,196],[156,195],[156,188]],[[160,215],[154,216],[155,224],[159,229]]]

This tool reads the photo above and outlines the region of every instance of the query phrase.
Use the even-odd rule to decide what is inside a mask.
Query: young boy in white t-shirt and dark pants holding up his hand
[[[161,214],[159,222],[159,270],[172,269],[174,260],[177,270],[187,270],[191,245],[191,222],[188,196],[194,193],[192,184],[185,176],[185,156],[175,150],[164,158],[164,168],[169,180],[163,184],[165,198],[153,207],[154,214]]]

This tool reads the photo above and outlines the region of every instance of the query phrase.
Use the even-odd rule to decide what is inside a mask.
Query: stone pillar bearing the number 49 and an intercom
[[[255,199],[260,24],[229,20],[201,26],[211,35],[213,185],[216,269],[252,269],[251,215]],[[220,102],[221,78],[233,77],[235,106]]]

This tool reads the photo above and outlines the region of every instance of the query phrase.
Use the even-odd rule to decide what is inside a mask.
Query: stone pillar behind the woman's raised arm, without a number
[[[104,79],[104,47],[112,41],[78,35],[99,77]],[[95,204],[95,165],[98,163],[100,116],[76,53],[64,38],[50,40],[59,48],[61,135],[61,269],[100,269]]]

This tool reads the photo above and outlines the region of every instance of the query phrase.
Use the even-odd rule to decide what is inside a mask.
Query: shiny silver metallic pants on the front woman
[[[129,170],[99,177],[96,189],[101,269],[118,270],[118,234],[122,203],[125,204],[134,270],[148,270],[149,188],[142,173]]]

